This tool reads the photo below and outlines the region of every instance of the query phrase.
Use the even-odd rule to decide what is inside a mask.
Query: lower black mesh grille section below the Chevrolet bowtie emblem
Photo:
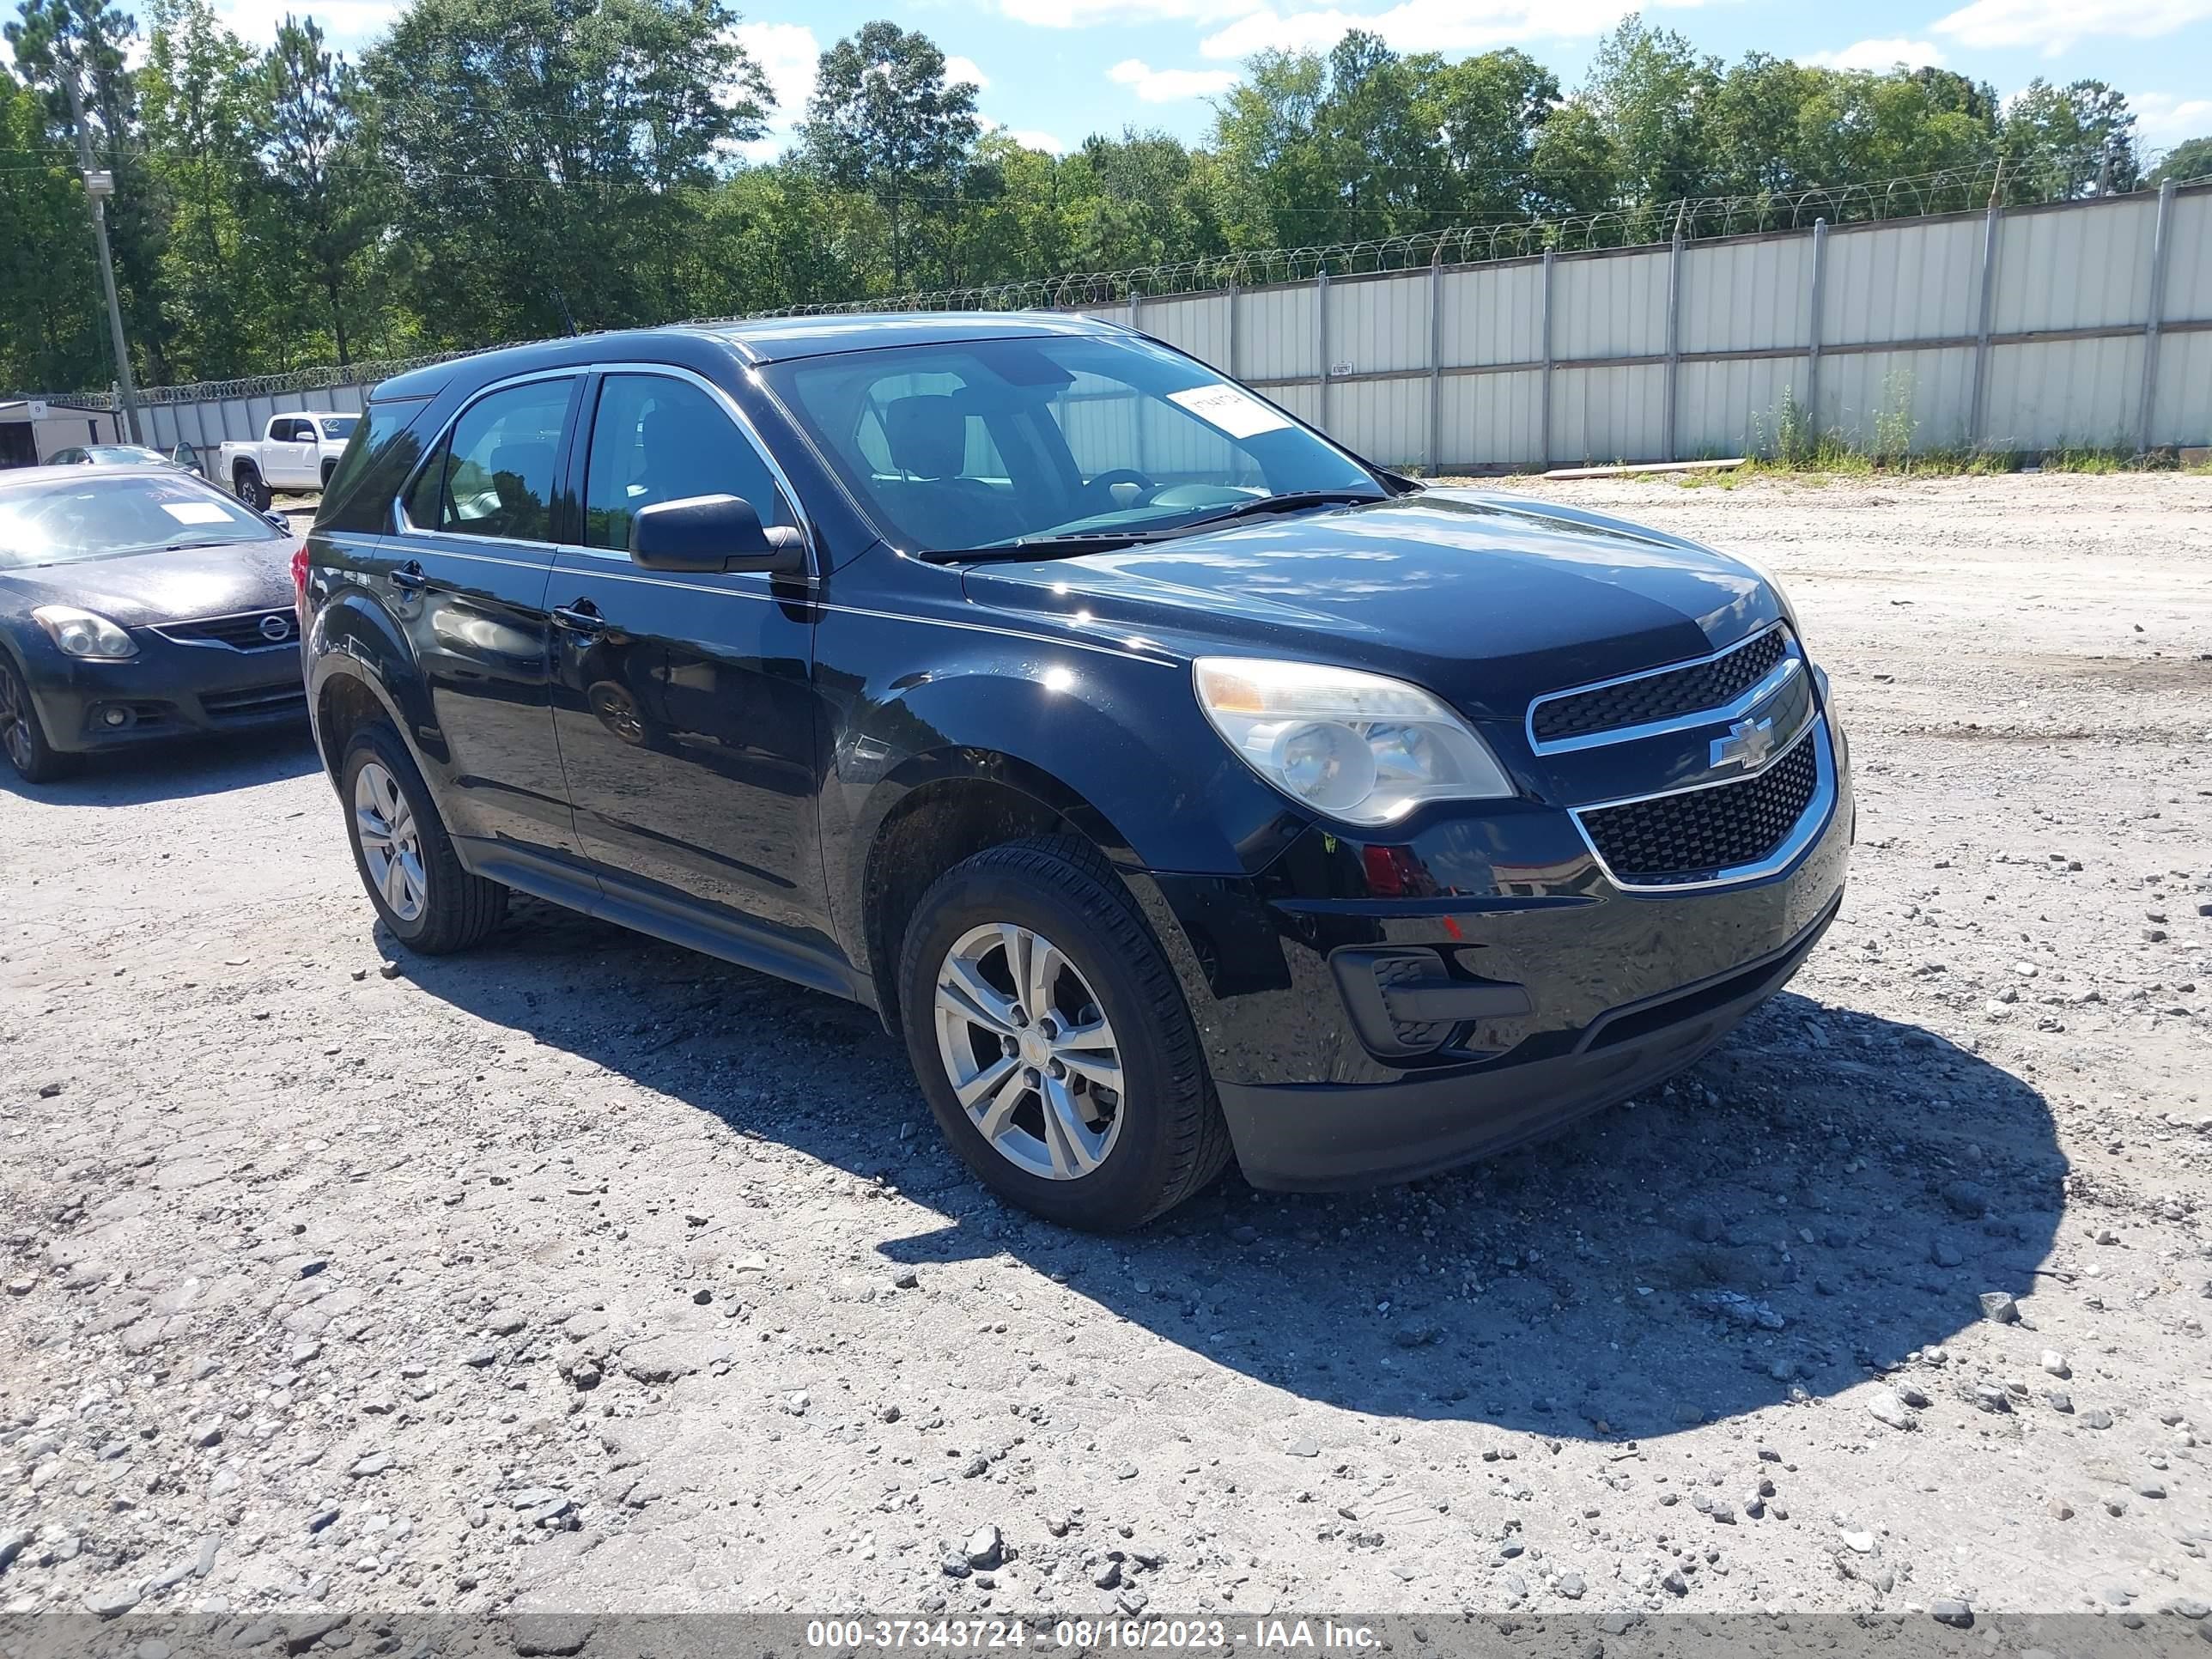
[[[1628,887],[1717,880],[1772,858],[1820,794],[1818,723],[1741,783],[1683,790],[1582,814],[1584,834]]]

